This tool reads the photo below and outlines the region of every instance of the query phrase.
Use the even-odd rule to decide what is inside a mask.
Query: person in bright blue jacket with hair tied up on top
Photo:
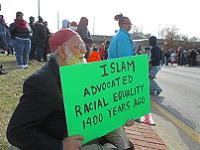
[[[113,36],[108,49],[108,59],[134,56],[134,45],[130,34],[132,23],[128,17],[119,14],[115,16],[119,31]]]

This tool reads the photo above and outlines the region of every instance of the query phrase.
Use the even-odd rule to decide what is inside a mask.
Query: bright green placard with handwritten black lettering
[[[60,67],[68,135],[84,143],[150,112],[148,57]]]

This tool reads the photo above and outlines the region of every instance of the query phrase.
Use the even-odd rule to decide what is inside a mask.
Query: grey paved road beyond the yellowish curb
[[[156,81],[163,89],[156,101],[200,133],[200,68],[164,66]]]

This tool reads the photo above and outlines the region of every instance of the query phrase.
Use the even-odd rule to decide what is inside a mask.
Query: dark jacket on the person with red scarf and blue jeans
[[[32,34],[31,28],[26,28],[26,29],[17,28],[15,22],[10,24],[9,31],[12,39],[15,39],[16,37],[30,38]]]

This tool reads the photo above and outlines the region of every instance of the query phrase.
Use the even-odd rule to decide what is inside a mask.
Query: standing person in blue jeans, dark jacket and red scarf
[[[29,53],[31,50],[30,36],[32,34],[31,28],[23,19],[22,12],[16,13],[16,19],[10,25],[9,31],[12,39],[14,39],[14,49],[19,68],[28,68]]]

